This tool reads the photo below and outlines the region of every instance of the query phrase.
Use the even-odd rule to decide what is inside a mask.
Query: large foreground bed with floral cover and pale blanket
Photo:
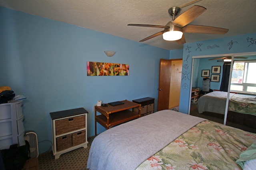
[[[90,147],[87,168],[239,170],[235,161],[254,142],[254,133],[162,110],[96,136]]]

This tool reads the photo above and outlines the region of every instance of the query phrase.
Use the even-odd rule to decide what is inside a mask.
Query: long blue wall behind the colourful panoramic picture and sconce
[[[170,51],[3,7],[0,30],[0,86],[27,97],[24,126],[42,141],[40,153],[51,146],[50,112],[84,107],[90,137],[97,100],[152,97],[156,111],[160,59]],[[87,61],[130,64],[130,75],[87,76]]]

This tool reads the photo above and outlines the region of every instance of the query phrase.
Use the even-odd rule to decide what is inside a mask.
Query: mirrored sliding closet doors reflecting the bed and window
[[[224,59],[194,59],[190,115],[256,133],[256,55]]]

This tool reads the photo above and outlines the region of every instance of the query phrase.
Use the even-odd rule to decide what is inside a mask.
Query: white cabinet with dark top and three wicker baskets
[[[52,118],[52,152],[55,159],[71,150],[87,147],[87,113],[84,108],[50,113]]]

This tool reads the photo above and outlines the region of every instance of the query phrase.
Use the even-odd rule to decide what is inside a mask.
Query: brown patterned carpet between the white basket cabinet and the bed
[[[40,170],[86,170],[87,159],[93,137],[88,138],[87,148],[78,148],[60,155],[54,159],[52,151],[45,152],[38,156]]]

